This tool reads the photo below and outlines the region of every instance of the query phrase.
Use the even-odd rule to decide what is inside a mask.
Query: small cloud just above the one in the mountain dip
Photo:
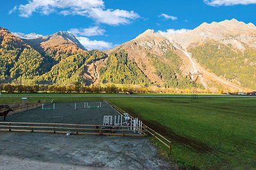
[[[106,30],[101,29],[99,26],[88,27],[84,29],[70,29],[72,34],[75,36],[102,36],[106,32]]]

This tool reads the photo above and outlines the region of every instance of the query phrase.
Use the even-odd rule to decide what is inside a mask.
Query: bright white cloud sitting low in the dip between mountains
[[[106,41],[90,40],[86,37],[77,37],[77,39],[87,50],[108,50],[117,46],[113,45],[113,43],[109,43]]]

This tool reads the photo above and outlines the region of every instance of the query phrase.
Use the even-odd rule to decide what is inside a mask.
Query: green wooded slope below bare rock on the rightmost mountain
[[[241,86],[256,89],[256,49],[240,52],[214,41],[190,48],[192,56],[209,71]]]

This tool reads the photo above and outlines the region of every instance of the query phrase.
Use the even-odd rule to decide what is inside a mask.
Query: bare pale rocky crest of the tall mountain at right
[[[252,23],[244,24],[236,19],[222,22],[203,23],[196,29],[181,34],[164,34],[170,41],[186,49],[195,43],[204,43],[212,39],[218,43],[232,45],[238,50],[246,47],[256,48],[256,27]]]

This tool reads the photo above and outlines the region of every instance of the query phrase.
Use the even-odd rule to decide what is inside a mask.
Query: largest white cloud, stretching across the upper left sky
[[[103,0],[30,0],[28,4],[21,4],[19,11],[21,17],[30,17],[34,12],[82,15],[108,25],[129,24],[140,17],[134,11],[106,9]]]

